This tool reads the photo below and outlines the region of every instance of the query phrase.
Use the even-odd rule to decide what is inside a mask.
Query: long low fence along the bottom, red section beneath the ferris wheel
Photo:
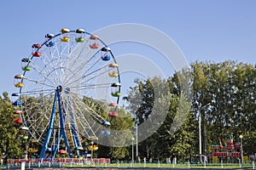
[[[59,159],[44,159],[44,160],[20,160],[20,159],[11,159],[8,160],[7,168],[9,169],[23,169],[26,168],[63,168],[63,167],[115,167],[115,168],[122,168],[129,167],[131,168],[172,168],[172,169],[202,169],[202,168],[211,168],[211,169],[237,169],[237,168],[250,168],[255,169],[254,161],[247,162],[247,163],[190,163],[188,162],[180,162],[180,163],[173,163],[173,162],[131,162],[131,161],[113,161],[110,162],[108,158],[94,158],[92,161],[90,158],[59,158]],[[6,166],[5,166],[6,167]]]

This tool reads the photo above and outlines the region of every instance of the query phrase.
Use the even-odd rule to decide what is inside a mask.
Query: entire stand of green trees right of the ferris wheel
[[[186,79],[189,75],[193,80]],[[156,97],[154,87],[166,84],[158,77],[144,81],[137,80],[137,86],[131,88],[129,109],[135,113],[139,124],[154,116],[155,104],[170,100],[170,108],[160,128],[148,139],[139,144],[140,156],[154,156],[164,159],[168,156],[188,158],[190,154],[199,154],[198,116],[201,113],[202,154],[211,152],[213,142],[227,139],[231,133],[233,139],[243,134],[245,152],[254,153],[256,132],[256,65],[224,61],[223,63],[195,62],[190,71],[175,73],[167,80],[168,93]],[[183,83],[186,82],[186,83]],[[183,87],[182,87],[183,86]],[[166,88],[163,86],[163,88]],[[192,89],[192,107],[189,91]],[[170,95],[171,98],[166,96]],[[180,105],[178,105],[180,104]],[[157,110],[157,108],[156,108]],[[160,109],[158,109],[160,112]],[[178,117],[183,126],[172,134],[170,129],[177,113],[190,111],[187,117]],[[175,118],[176,119],[176,118]],[[152,123],[152,122],[147,122]],[[140,138],[141,136],[139,136]]]

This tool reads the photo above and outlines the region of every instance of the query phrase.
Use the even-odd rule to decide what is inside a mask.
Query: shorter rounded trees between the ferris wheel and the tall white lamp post
[[[137,86],[131,88],[129,94],[129,109],[135,112],[138,117],[139,125],[150,123],[147,131],[150,133],[150,127],[159,123],[159,128],[148,139],[140,143],[140,157],[152,157],[153,159],[165,160],[166,157],[188,157],[189,148],[194,141],[194,133],[191,129],[194,128],[193,118],[190,112],[190,104],[186,101],[183,92],[178,89],[180,82],[172,82],[177,80],[177,77],[172,77],[170,80],[162,80],[159,77],[147,79],[146,81],[137,81]],[[139,105],[138,105],[139,104]],[[188,117],[178,116],[179,112],[188,112]],[[157,116],[151,121],[151,117],[165,116],[164,120],[160,120]],[[179,114],[183,115],[183,114]],[[187,115],[187,114],[186,114]],[[176,117],[176,118],[175,118]],[[182,123],[183,127],[172,129],[172,122]],[[174,126],[175,127],[175,126]],[[172,131],[177,131],[172,133]],[[143,138],[140,134],[139,139]]]

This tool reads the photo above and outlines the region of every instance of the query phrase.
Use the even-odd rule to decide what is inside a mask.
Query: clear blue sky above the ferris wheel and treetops
[[[2,1],[0,5],[0,93],[15,90],[20,59],[46,33],[61,28],[96,31],[104,26],[138,23],[163,31],[189,63],[234,59],[256,64],[254,0],[44,0]]]

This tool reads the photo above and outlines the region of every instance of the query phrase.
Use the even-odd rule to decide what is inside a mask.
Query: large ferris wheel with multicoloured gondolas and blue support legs
[[[108,126],[118,116],[121,84],[119,65],[100,37],[67,28],[47,34],[43,43],[32,44],[21,69],[15,75],[18,93],[12,94],[14,122],[23,137],[28,131],[29,138],[23,139],[32,143],[29,150],[40,152],[39,158],[55,158],[62,145],[69,157],[73,150],[79,155],[83,139],[109,134]],[[97,145],[89,149],[97,150]]]

